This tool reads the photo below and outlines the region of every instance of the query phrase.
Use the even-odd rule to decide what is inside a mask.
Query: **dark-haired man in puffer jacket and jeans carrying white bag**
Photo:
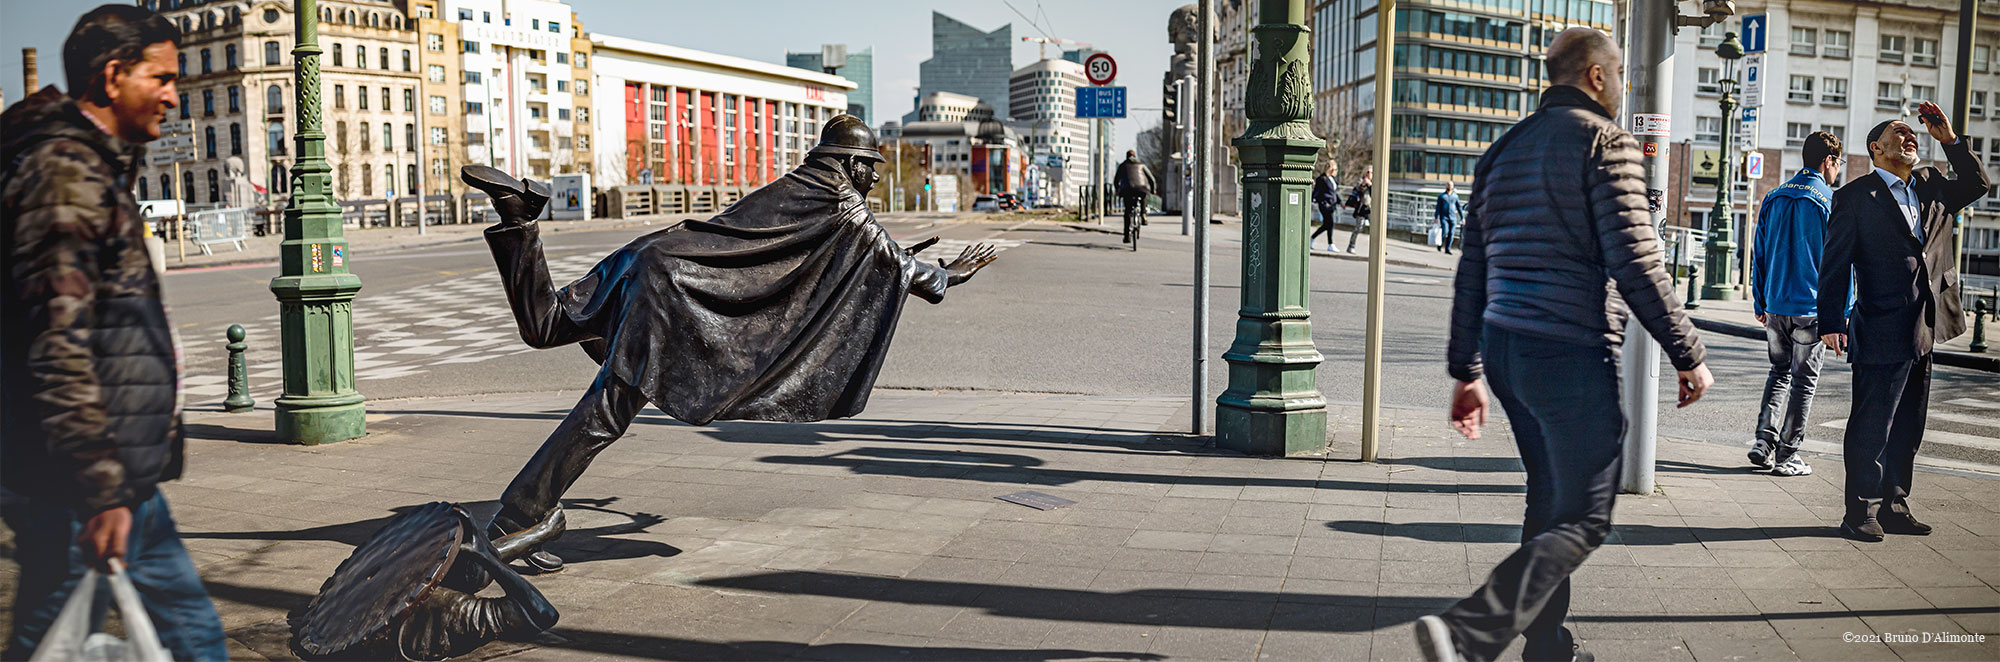
[[[132,174],[174,108],[180,30],[106,4],[62,44],[54,86],[0,116],[0,514],[26,660],[112,558],[174,660],[224,660],[222,622],[160,496],[180,478],[180,368]],[[102,592],[100,592],[102,596]]]

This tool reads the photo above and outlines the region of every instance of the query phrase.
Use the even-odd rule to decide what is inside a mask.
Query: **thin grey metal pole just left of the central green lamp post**
[[[1214,0],[1198,2],[1202,36],[1194,46],[1194,186],[1188,206],[1194,216],[1194,434],[1208,434],[1208,218],[1214,216],[1214,142],[1216,142],[1216,12]],[[1180,106],[1188,112],[1190,106]]]

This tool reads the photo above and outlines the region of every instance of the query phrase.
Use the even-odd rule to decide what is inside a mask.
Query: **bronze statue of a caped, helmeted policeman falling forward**
[[[522,340],[582,344],[602,368],[584,398],[514,476],[494,538],[558,516],[558,498],[652,402],[690,424],[828,420],[860,414],[906,296],[932,304],[994,260],[970,246],[950,264],[898,248],[868,212],[880,180],[874,132],[826,122],[806,162],[710,220],[646,234],[556,288],[536,216],[548,186],[488,166],[460,178],[492,196],[486,230]],[[560,570],[562,558],[526,560]]]

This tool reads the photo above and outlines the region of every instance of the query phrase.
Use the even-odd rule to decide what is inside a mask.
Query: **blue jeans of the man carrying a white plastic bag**
[[[84,532],[84,518],[76,510],[36,500],[0,508],[0,514],[14,530],[14,560],[20,562],[14,636],[6,642],[4,658],[26,660],[90,568],[76,542]],[[126,542],[124,562],[146,604],[146,616],[160,632],[160,644],[174,660],[228,660],[222,618],[216,616],[214,602],[208,602],[208,588],[194,572],[188,548],[180,544],[166,496],[154,494],[132,508],[132,538]],[[100,584],[96,598],[94,614],[102,618],[112,600],[110,586]]]

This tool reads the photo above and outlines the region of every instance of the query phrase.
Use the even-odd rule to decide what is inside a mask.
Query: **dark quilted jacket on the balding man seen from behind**
[[[1626,308],[1676,370],[1702,362],[1646,210],[1638,142],[1572,86],[1500,136],[1474,168],[1452,302],[1452,376],[1482,374],[1480,332],[1618,348]]]

